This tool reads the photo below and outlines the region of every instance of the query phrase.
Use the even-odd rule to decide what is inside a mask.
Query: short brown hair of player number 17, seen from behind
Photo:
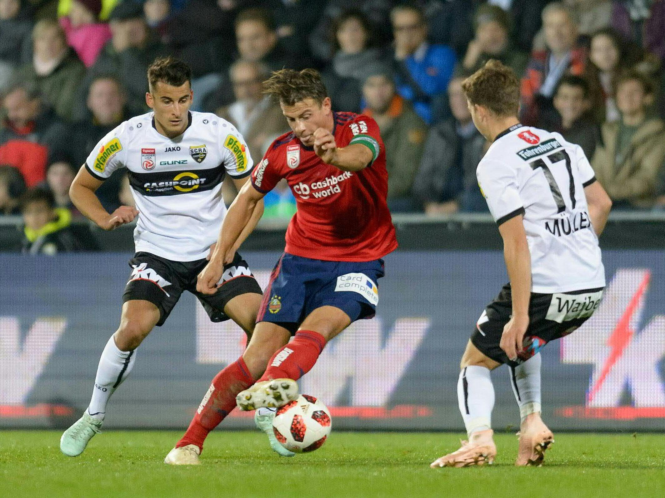
[[[462,82],[462,90],[471,104],[483,106],[498,117],[517,116],[519,80],[515,72],[495,59]]]

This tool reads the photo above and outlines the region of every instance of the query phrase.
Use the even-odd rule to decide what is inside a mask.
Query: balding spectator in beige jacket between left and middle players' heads
[[[217,110],[217,116],[231,122],[243,135],[255,162],[261,160],[268,145],[289,131],[282,110],[270,96],[263,94],[263,80],[270,76],[258,62],[235,62],[229,70],[235,102]]]

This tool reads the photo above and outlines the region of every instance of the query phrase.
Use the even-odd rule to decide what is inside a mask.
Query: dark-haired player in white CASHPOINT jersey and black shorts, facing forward
[[[108,399],[132,371],[136,348],[155,325],[166,321],[183,291],[198,297],[212,321],[232,319],[248,336],[253,331],[261,288],[237,248],[261,218],[262,205],[230,248],[227,260],[232,262],[224,267],[217,291],[196,291],[197,276],[226,212],[222,181],[227,177],[240,189],[253,164],[233,125],[189,110],[191,78],[184,62],[155,60],[148,68],[146,93],[152,112],[123,122],[102,138],[70,189],[76,208],[104,230],[138,219],[120,326],[102,351],[88,408],[61,438],[67,456],[80,455],[99,432]],[[95,191],[121,167],[128,170],[136,209],[121,206],[109,214]]]

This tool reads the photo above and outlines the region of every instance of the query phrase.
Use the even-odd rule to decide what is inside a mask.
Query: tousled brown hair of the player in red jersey
[[[328,96],[323,78],[315,69],[280,69],[263,82],[263,92],[274,96],[280,104],[293,106],[306,98],[313,98],[319,103]]]

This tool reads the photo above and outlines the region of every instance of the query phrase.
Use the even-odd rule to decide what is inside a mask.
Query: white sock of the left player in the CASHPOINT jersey
[[[132,371],[135,359],[135,351],[120,351],[113,336],[108,339],[108,343],[102,351],[102,357],[99,359],[92,398],[90,398],[87,410],[88,415],[98,420],[104,420],[108,398]]]

